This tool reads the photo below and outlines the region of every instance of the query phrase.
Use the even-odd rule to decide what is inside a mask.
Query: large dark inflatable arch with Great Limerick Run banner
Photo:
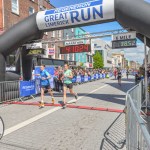
[[[0,80],[6,79],[5,58],[28,41],[40,39],[43,32],[118,21],[124,28],[147,37],[150,46],[150,3],[146,0],[95,0],[35,13],[0,36]],[[31,77],[31,59],[23,51],[23,73]]]

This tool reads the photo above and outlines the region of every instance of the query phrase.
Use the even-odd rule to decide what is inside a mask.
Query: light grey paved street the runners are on
[[[134,80],[104,79],[75,86],[76,105],[123,109],[125,93]],[[73,97],[68,95],[68,101]],[[56,102],[62,94],[55,93]],[[29,101],[39,101],[39,97]],[[50,97],[45,97],[50,102]],[[84,109],[1,105],[5,136],[0,150],[116,150],[125,149],[124,114]]]

